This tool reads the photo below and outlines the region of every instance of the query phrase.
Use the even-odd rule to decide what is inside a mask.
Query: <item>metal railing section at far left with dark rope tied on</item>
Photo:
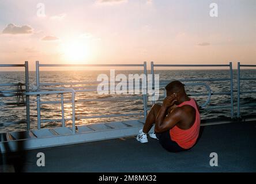
[[[4,87],[10,87],[10,86],[25,86],[25,91],[28,92],[29,91],[29,75],[28,75],[28,62],[25,61],[24,64],[0,64],[0,67],[24,67],[25,68],[25,83],[1,83],[0,86],[4,86]],[[1,91],[0,96],[2,97],[14,97],[17,96],[19,92],[23,93],[24,90],[4,90]],[[23,95],[23,94],[21,94]],[[0,105],[26,105],[26,114],[27,114],[27,129],[30,129],[30,114],[29,114],[29,95],[26,95],[26,101],[22,102],[22,103],[4,103],[1,102]]]

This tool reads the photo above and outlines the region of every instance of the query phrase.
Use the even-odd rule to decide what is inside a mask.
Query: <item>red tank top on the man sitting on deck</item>
[[[170,136],[171,140],[176,141],[176,143],[178,143],[180,147],[189,149],[193,147],[199,135],[200,114],[197,109],[197,104],[195,104],[193,98],[190,98],[190,101],[182,102],[182,104],[178,105],[178,107],[181,107],[183,105],[193,106],[193,108],[195,109],[195,122],[192,127],[186,130],[180,129],[175,125],[172,129],[170,129]]]

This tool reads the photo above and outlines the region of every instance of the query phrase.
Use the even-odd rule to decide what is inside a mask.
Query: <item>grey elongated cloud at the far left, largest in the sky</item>
[[[3,29],[3,34],[31,34],[33,29],[28,25],[17,26],[15,24],[8,24],[5,29]]]

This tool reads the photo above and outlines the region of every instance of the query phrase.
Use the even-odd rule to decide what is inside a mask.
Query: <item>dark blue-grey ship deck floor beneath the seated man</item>
[[[255,172],[255,143],[256,121],[235,122],[202,127],[198,143],[186,152],[170,153],[155,139],[141,144],[132,136],[2,154],[2,171]],[[38,152],[45,167],[36,165]],[[218,154],[217,167],[209,164],[211,152]]]

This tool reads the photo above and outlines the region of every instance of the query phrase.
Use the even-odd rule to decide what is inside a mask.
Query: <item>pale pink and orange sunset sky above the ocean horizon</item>
[[[1,0],[0,64],[256,64],[255,18],[254,0]]]

